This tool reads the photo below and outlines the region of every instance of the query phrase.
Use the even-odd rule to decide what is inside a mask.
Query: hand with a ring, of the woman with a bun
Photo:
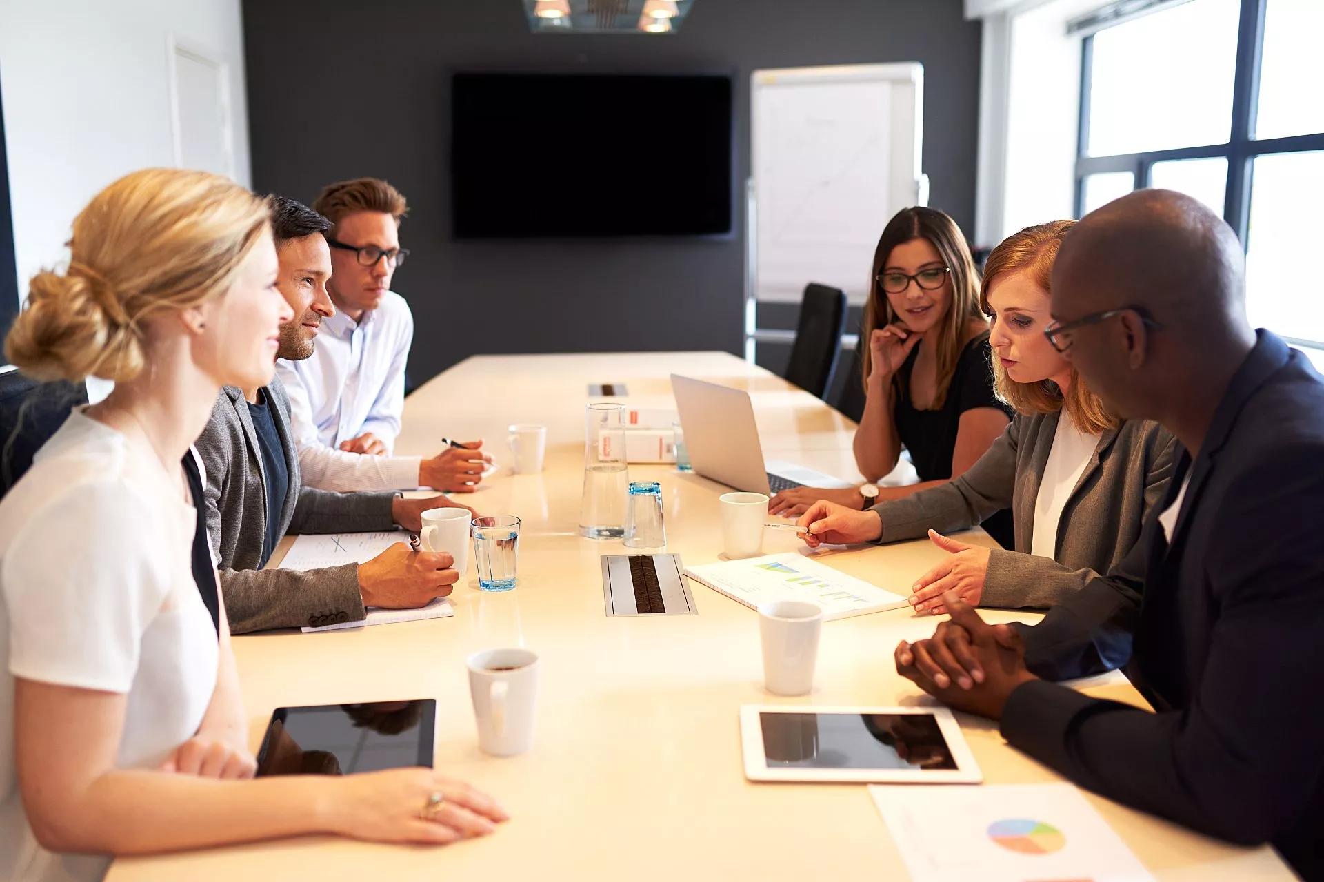
[[[491,796],[432,768],[346,775],[330,793],[331,829],[373,842],[445,845],[486,836],[510,819]]]

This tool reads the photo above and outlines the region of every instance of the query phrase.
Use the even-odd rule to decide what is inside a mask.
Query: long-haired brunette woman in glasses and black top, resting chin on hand
[[[772,499],[773,514],[801,514],[817,500],[855,509],[959,477],[997,440],[1010,407],[993,391],[989,325],[980,312],[978,271],[956,221],[908,208],[874,250],[859,335],[865,414],[855,431],[859,488],[797,487]],[[919,484],[879,488],[902,448]],[[1010,545],[1010,520],[985,528]]]

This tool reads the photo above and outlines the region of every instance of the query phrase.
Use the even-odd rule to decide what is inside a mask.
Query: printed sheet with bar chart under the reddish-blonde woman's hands
[[[906,598],[838,573],[796,551],[686,567],[685,574],[751,610],[768,600],[810,600],[824,620],[896,610]]]

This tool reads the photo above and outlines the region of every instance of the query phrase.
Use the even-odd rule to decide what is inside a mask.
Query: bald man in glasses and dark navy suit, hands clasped
[[[1181,446],[1132,553],[1034,627],[955,594],[896,670],[1082,787],[1272,842],[1324,879],[1324,381],[1246,321],[1245,258],[1196,200],[1139,190],[1053,267],[1046,333],[1127,418]],[[1155,713],[1050,681],[1123,666]]]

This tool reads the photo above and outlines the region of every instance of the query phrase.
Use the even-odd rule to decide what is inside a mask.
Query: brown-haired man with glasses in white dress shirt
[[[409,255],[399,235],[405,197],[384,180],[360,177],[326,186],[312,208],[335,225],[326,241],[336,315],[322,321],[311,358],[277,362],[290,394],[303,483],[328,491],[473,492],[491,461],[482,442],[426,459],[392,455],[413,341],[409,304],[391,290]]]

